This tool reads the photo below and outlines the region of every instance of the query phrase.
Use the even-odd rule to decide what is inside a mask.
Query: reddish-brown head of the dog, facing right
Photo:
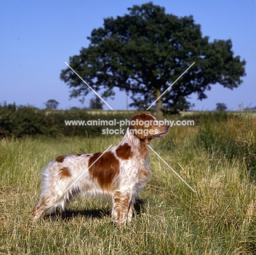
[[[169,130],[169,125],[164,121],[157,121],[150,113],[144,112],[136,114],[130,120],[129,131],[137,138],[153,139],[166,135]]]

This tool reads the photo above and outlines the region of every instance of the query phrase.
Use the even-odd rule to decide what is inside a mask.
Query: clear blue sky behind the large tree
[[[0,103],[33,105],[44,108],[48,99],[60,103],[59,109],[88,107],[91,92],[82,105],[69,99],[69,88],[60,80],[65,61],[89,45],[92,29],[102,26],[105,17],[128,13],[127,8],[149,1],[18,1],[1,2]],[[229,90],[213,85],[202,101],[192,95],[193,110],[213,110],[225,103],[230,110],[238,104],[256,106],[256,1],[254,0],[156,0],[166,13],[193,15],[202,34],[213,39],[231,39],[235,55],[246,60],[243,84]],[[126,96],[117,89],[107,102],[115,110],[126,109]],[[131,99],[129,99],[131,103]],[[109,109],[104,105],[104,109]]]

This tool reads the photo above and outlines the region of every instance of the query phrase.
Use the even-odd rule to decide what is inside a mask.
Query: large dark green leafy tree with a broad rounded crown
[[[133,106],[147,108],[193,62],[194,66],[156,102],[159,114],[189,108],[188,96],[205,92],[219,83],[230,89],[241,84],[245,61],[234,56],[231,40],[202,37],[192,16],[177,17],[153,3],[134,5],[129,14],[104,19],[103,27],[91,32],[90,45],[70,57],[70,66],[103,97],[113,88],[130,91]],[[86,96],[90,89],[69,68],[62,70],[71,97]]]

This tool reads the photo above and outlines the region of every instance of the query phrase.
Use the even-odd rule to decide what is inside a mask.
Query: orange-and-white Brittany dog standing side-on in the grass
[[[136,114],[123,140],[105,153],[59,156],[42,169],[42,188],[33,221],[44,211],[64,210],[78,193],[112,199],[112,220],[121,228],[132,219],[137,194],[150,179],[150,140],[168,133],[149,113]]]

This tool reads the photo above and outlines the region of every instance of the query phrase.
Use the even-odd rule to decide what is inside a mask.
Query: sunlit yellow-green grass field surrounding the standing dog
[[[256,254],[255,136],[255,118],[210,117],[152,141],[196,193],[150,152],[152,180],[122,230],[108,201],[88,197],[57,221],[31,221],[48,161],[103,151],[121,137],[2,139],[0,254]]]

